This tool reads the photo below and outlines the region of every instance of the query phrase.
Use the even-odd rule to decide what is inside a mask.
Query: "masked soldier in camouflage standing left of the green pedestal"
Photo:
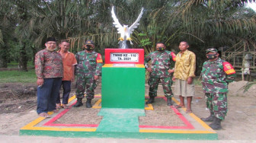
[[[78,65],[75,67],[77,75],[77,90],[75,95],[77,102],[74,107],[82,106],[82,98],[86,93],[86,107],[91,108],[91,100],[94,98],[96,80],[101,75],[103,65],[101,54],[94,52],[94,43],[91,40],[85,42],[85,50],[75,54]],[[86,91],[85,91],[86,88]]]

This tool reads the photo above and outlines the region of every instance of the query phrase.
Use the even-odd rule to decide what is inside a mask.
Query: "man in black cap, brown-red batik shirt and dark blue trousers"
[[[50,117],[48,111],[56,112],[56,98],[62,81],[62,56],[56,52],[56,40],[49,37],[46,48],[37,52],[35,69],[37,75],[37,113]]]

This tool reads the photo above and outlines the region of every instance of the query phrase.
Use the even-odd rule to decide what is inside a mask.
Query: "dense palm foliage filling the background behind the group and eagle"
[[[148,54],[155,43],[163,42],[177,53],[185,40],[197,55],[200,73],[209,46],[240,48],[249,43],[246,46],[255,47],[256,15],[245,8],[247,2],[255,0],[0,0],[0,64],[21,62],[21,53],[24,60],[34,59],[46,37],[68,39],[74,53],[82,50],[85,40],[94,40],[96,51],[104,55],[104,49],[118,46],[111,7],[120,24],[128,25],[143,7],[139,27],[132,34],[133,48]]]

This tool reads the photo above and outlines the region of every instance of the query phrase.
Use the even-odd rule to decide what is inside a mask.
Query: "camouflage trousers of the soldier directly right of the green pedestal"
[[[168,78],[156,78],[156,77],[150,77],[149,78],[149,97],[156,97],[157,91],[158,91],[158,83],[161,81],[162,87],[165,92],[165,97],[173,97],[172,91],[171,91],[171,77]]]

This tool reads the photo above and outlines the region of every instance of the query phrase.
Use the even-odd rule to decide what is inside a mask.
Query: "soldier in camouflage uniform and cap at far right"
[[[206,97],[206,106],[210,116],[201,118],[205,122],[212,122],[212,129],[221,129],[220,122],[227,113],[228,84],[235,79],[235,70],[229,62],[219,58],[218,50],[206,49],[208,61],[203,63],[202,84]]]

